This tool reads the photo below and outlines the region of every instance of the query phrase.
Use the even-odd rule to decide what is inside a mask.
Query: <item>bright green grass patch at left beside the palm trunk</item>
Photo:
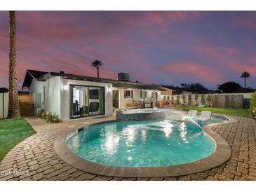
[[[0,161],[16,144],[34,133],[36,132],[24,118],[0,120]]]

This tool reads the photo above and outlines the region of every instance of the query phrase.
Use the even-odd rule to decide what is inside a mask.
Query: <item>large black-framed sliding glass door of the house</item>
[[[70,118],[105,114],[105,88],[70,85]]]

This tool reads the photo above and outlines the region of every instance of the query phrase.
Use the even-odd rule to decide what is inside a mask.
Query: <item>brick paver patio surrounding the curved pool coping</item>
[[[0,163],[0,180],[256,180],[256,121],[236,118],[236,123],[216,125],[213,130],[231,146],[231,158],[204,172],[180,177],[123,178],[103,177],[77,170],[55,153],[54,142],[63,131],[95,121],[114,119],[90,118],[57,124],[27,117],[36,134],[15,146]]]

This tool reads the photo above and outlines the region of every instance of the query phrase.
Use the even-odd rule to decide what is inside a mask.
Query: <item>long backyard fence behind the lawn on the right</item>
[[[252,92],[222,93],[222,94],[181,94],[173,95],[173,100],[180,100],[184,104],[210,104],[212,107],[242,109],[248,108]],[[189,98],[190,97],[190,98]],[[189,101],[190,100],[190,101]],[[190,103],[189,103],[190,102]]]

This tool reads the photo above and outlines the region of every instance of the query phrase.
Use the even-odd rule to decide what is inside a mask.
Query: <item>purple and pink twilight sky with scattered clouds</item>
[[[17,64],[133,81],[207,88],[248,71],[256,88],[256,11],[18,11]],[[8,87],[8,12],[0,11],[0,87]]]

